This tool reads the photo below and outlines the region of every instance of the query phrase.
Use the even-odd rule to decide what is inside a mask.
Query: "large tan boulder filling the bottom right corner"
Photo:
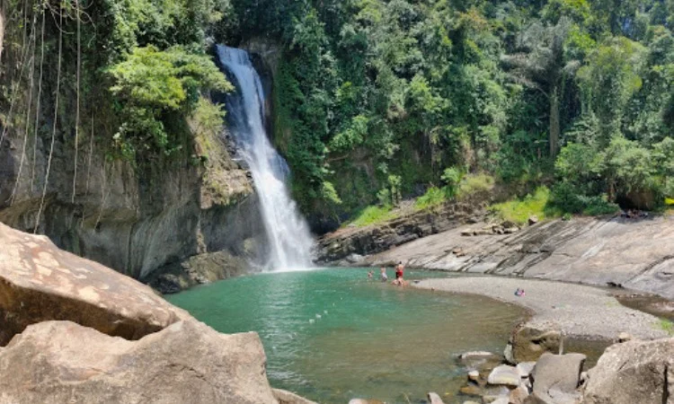
[[[674,404],[674,338],[607,347],[588,377],[583,404]]]

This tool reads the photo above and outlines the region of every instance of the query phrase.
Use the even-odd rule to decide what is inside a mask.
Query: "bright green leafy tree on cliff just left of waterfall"
[[[232,88],[208,57],[192,55],[181,47],[165,51],[135,48],[107,73],[121,120],[115,145],[130,161],[136,160],[137,153],[169,155],[180,150],[183,144],[166,117],[176,112],[191,114],[202,91]]]

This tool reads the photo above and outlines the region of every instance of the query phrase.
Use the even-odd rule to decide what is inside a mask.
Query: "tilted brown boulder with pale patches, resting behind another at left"
[[[137,339],[190,318],[146,285],[0,224],[0,346],[40,321]]]

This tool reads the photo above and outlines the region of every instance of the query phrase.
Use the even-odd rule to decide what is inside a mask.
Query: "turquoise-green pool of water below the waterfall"
[[[272,386],[341,404],[353,398],[423,402],[428,391],[455,402],[466,380],[457,354],[502,352],[524,315],[478,296],[381,284],[367,272],[238,277],[168,299],[219,331],[257,331]],[[405,273],[408,279],[440,276]]]

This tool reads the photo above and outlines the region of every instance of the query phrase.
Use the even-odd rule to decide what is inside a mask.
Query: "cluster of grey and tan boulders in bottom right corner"
[[[458,357],[468,371],[460,394],[470,399],[464,404],[673,404],[674,338],[619,340],[588,372],[583,354],[544,352],[505,364],[490,352],[468,352]]]

